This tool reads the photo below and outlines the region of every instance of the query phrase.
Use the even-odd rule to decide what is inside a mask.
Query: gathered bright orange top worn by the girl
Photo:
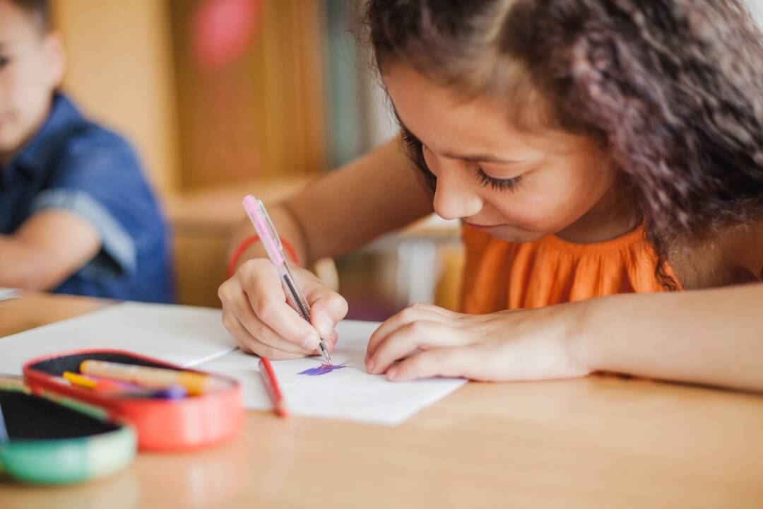
[[[461,292],[464,313],[664,291],[655,275],[657,255],[645,239],[643,227],[612,240],[586,244],[555,235],[513,243],[470,227],[463,228],[462,237],[466,247]]]

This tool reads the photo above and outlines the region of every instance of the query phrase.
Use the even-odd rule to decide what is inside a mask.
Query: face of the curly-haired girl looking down
[[[497,101],[464,101],[408,66],[391,66],[384,79],[437,177],[439,216],[513,242],[547,234],[596,240],[591,225],[607,221],[615,204],[614,171],[594,140],[559,131],[522,133]]]

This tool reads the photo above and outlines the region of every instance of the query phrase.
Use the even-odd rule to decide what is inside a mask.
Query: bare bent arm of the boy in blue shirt
[[[56,288],[101,249],[98,230],[79,215],[37,212],[12,235],[0,235],[0,286]]]

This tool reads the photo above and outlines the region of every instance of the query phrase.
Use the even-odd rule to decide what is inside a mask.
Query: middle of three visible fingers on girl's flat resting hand
[[[442,322],[419,320],[405,324],[381,340],[365,366],[369,373],[385,372],[393,362],[416,350],[430,350],[465,344],[457,330]]]

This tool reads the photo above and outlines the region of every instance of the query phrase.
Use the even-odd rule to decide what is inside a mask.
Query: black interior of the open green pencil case
[[[0,408],[11,440],[89,437],[119,428],[21,391],[0,390]]]

